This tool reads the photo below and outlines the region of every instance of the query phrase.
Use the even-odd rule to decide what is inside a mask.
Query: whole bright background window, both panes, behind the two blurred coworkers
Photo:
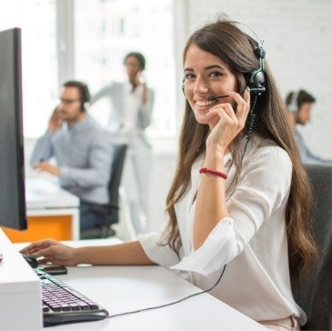
[[[123,58],[129,51],[146,56],[146,83],[155,90],[153,120],[148,134],[174,136],[173,5],[173,0],[80,0],[75,1],[74,6],[63,8],[56,0],[4,0],[0,30],[14,26],[22,28],[25,136],[35,138],[44,134],[49,116],[58,103],[59,85],[64,79],[83,80],[92,93],[112,80],[125,80]],[[56,11],[57,8],[61,9]],[[61,17],[57,18],[56,12]],[[68,28],[61,34],[68,36],[66,43],[74,40],[74,48],[64,45],[64,35],[59,37],[56,31],[59,24],[65,26],[62,20],[73,17],[75,35]],[[61,53],[63,48],[65,54]],[[73,50],[74,68],[67,60]],[[59,54],[61,58],[58,58]],[[70,73],[68,65],[71,65]],[[73,73],[75,77],[71,76]],[[109,111],[109,105],[106,108]],[[105,116],[106,108],[96,109],[95,114]]]

